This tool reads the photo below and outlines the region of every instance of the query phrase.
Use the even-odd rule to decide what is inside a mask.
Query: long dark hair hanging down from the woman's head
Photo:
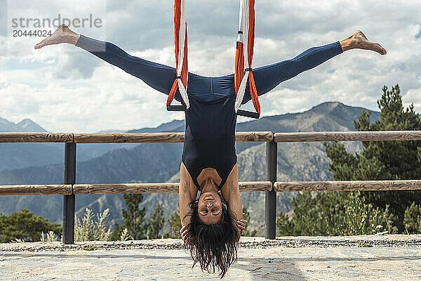
[[[222,197],[221,197],[222,200]],[[194,261],[200,264],[201,270],[215,273],[220,270],[219,276],[224,277],[229,266],[237,260],[239,230],[235,214],[222,200],[222,218],[219,223],[206,224],[201,221],[198,213],[199,200],[189,203],[193,209],[190,223],[187,225],[185,249],[190,251]]]

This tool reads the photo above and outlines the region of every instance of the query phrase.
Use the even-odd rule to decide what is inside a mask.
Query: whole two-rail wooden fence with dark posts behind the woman
[[[415,190],[421,181],[276,182],[277,143],[313,141],[420,141],[421,131],[236,132],[236,141],[264,141],[267,181],[240,182],[239,189],[265,191],[265,237],[275,238],[276,192],[314,190]],[[0,195],[64,195],[63,244],[74,243],[74,195],[178,192],[178,183],[75,184],[76,143],[182,143],[184,133],[0,133],[0,143],[65,143],[63,185],[0,185]]]

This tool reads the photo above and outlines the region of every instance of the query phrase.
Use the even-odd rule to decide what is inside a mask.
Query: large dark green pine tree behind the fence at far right
[[[370,112],[363,111],[359,120],[354,120],[358,131],[414,131],[421,130],[421,120],[413,110],[413,104],[403,109],[399,85],[383,94],[377,105],[380,120],[370,124]],[[361,155],[352,155],[342,143],[324,143],[331,159],[329,170],[335,181],[364,180],[410,180],[421,177],[421,141],[363,141]],[[405,210],[412,202],[420,202],[420,190],[363,191],[367,204],[385,209],[395,215],[394,224],[399,232],[405,229],[403,218]]]

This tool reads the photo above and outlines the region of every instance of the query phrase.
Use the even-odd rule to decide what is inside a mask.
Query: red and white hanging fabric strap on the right
[[[240,0],[239,32],[236,41],[234,87],[235,111],[239,110],[249,81],[250,96],[256,112],[260,115],[258,91],[251,70],[255,37],[255,0]],[[247,60],[245,60],[247,58]],[[246,70],[245,70],[246,68]]]

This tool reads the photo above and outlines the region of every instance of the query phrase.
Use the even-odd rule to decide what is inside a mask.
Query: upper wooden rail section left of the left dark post
[[[0,143],[73,143],[73,133],[0,133]]]

